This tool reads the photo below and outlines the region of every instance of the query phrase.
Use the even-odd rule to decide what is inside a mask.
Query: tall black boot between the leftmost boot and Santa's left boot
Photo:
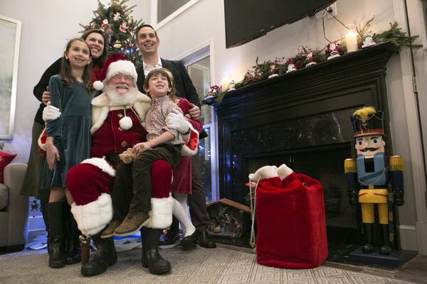
[[[81,248],[80,248],[80,231],[78,229],[77,223],[71,214],[70,207],[66,204],[68,210],[66,211],[66,226],[67,226],[67,245],[65,246],[65,251],[67,251],[67,264],[78,263],[82,260]]]

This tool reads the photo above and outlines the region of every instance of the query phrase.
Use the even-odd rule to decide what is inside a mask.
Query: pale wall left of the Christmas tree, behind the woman
[[[137,4],[132,16],[147,22],[149,2],[139,2],[130,0],[126,5]],[[30,153],[31,127],[39,105],[33,87],[46,68],[63,54],[67,39],[81,35],[79,23],[89,23],[96,9],[96,0],[0,0],[0,14],[22,22],[14,138],[4,140],[4,148],[18,154],[14,163],[26,163]]]

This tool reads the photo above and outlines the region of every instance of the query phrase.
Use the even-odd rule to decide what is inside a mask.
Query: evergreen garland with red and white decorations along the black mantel
[[[369,21],[367,21],[363,27],[356,27],[356,32],[358,34],[357,38],[359,50],[362,49],[363,40],[367,36],[371,36],[375,43],[385,43],[389,41],[390,43],[393,43],[394,45],[399,47],[399,50],[401,50],[402,48],[423,47],[423,45],[413,44],[414,40],[418,38],[418,35],[413,35],[409,37],[408,35],[406,35],[406,32],[401,31],[401,28],[398,28],[397,22],[390,23],[389,30],[383,31],[382,33],[372,34],[371,31],[369,31],[369,26],[371,25],[372,21],[374,21],[374,17],[369,19]],[[341,44],[339,44],[338,42],[341,42]],[[245,87],[248,84],[267,80],[268,77],[272,75],[272,73],[276,75],[283,75],[288,71],[288,67],[290,64],[293,64],[296,70],[305,68],[309,58],[310,61],[321,63],[325,62],[327,58],[330,57],[333,51],[335,53],[339,53],[339,55],[344,55],[345,53],[347,53],[345,40],[336,40],[333,44],[335,45],[334,50],[332,50],[332,43],[325,46],[325,48],[316,50],[312,50],[307,46],[304,47],[300,45],[297,48],[297,55],[295,55],[293,58],[288,59],[285,59],[284,57],[275,58],[275,60],[267,60],[262,63],[259,63],[258,58],[256,58],[255,65],[252,67],[253,70],[248,70],[248,72],[246,72],[245,76],[243,77],[243,80],[241,80],[240,82],[236,82],[234,87],[238,89],[241,87]],[[222,92],[216,92],[214,96],[211,93],[207,94],[207,96],[209,97],[209,101],[215,98],[216,102],[221,102],[227,92],[228,89],[222,90]]]

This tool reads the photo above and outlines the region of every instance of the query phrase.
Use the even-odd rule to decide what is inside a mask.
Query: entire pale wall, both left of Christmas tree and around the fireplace
[[[134,18],[142,18],[149,23],[150,3],[150,0],[130,0],[128,6],[137,4],[133,13]],[[374,32],[388,29],[389,23],[397,18],[399,25],[405,28],[402,3],[403,0],[337,0],[338,18],[343,23],[363,24],[375,16],[371,25]],[[411,31],[413,34],[423,35],[422,43],[427,45],[420,3],[421,0],[408,0]],[[32,94],[33,86],[46,67],[61,55],[66,38],[78,34],[80,31],[78,23],[88,23],[93,16],[92,11],[96,8],[95,0],[0,0],[2,15],[22,21],[15,133],[13,140],[6,141],[6,149],[19,154],[16,162],[26,162],[28,159],[31,125],[38,107],[38,101]],[[346,33],[333,18],[325,21],[325,28],[327,38],[330,40],[342,38]],[[189,10],[159,28],[160,55],[169,59],[180,58],[188,54],[189,50],[194,50],[196,46],[211,41],[212,84],[221,84],[225,75],[235,81],[241,80],[246,70],[255,64],[257,57],[261,62],[275,57],[292,57],[297,53],[298,45],[307,45],[310,48],[323,48],[327,45],[327,41],[323,38],[322,21],[316,17],[304,18],[291,25],[282,26],[250,43],[228,50],[225,48],[224,31],[223,1],[200,0]],[[423,109],[421,115],[423,121],[427,121],[426,51],[417,50],[415,56],[418,91]],[[399,209],[400,222],[405,228],[401,230],[402,247],[416,250],[420,246],[417,239],[418,243],[423,238],[427,239],[427,213],[423,201],[425,190],[421,175],[423,165],[419,154],[421,153],[419,139],[416,137],[418,130],[413,126],[415,107],[411,94],[411,73],[407,62],[408,52],[393,55],[387,65],[386,81],[391,112],[390,136],[394,143],[394,154],[402,155],[405,159],[406,203]],[[427,139],[426,126],[424,135]],[[418,226],[420,224],[421,226]],[[421,251],[427,254],[426,247]]]

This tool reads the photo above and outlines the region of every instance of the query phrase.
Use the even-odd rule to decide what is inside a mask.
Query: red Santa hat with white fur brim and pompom
[[[104,63],[98,80],[93,83],[93,87],[97,90],[104,88],[103,82],[105,80],[110,80],[111,77],[123,73],[125,75],[130,75],[134,84],[137,84],[137,70],[135,65],[132,62],[127,60],[125,56],[119,53],[113,53],[110,55]]]

